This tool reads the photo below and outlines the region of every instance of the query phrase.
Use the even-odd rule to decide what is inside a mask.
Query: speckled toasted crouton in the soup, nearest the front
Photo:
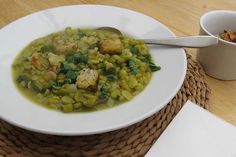
[[[98,71],[92,69],[83,69],[77,76],[76,85],[82,89],[97,89]]]

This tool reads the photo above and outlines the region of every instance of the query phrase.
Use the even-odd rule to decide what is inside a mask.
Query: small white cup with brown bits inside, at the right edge
[[[226,10],[210,11],[200,19],[200,35],[217,36],[224,30],[236,31],[236,12]],[[219,39],[219,44],[201,48],[197,60],[205,72],[217,79],[236,79],[236,43]]]

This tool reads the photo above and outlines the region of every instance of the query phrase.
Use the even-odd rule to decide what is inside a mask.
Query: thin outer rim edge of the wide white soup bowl
[[[4,28],[7,28],[9,25],[19,21],[19,20],[22,20],[24,18],[27,18],[29,16],[32,16],[32,14],[37,14],[37,13],[40,13],[42,11],[47,11],[47,10],[51,10],[51,9],[60,9],[60,8],[64,8],[64,7],[72,7],[72,6],[94,6],[94,7],[113,7],[113,8],[117,8],[117,9],[124,9],[124,10],[128,10],[128,11],[132,11],[132,12],[135,12],[135,13],[138,13],[138,14],[143,14],[155,21],[157,21],[159,23],[159,25],[161,25],[162,27],[164,27],[172,36],[175,36],[175,34],[170,30],[170,28],[168,28],[165,24],[163,24],[162,22],[160,22],[158,19],[155,19],[153,18],[152,16],[149,16],[149,15],[146,15],[142,12],[138,12],[138,11],[135,11],[135,10],[132,10],[132,9],[127,9],[127,8],[123,8],[123,7],[116,7],[116,6],[110,6],[110,5],[96,5],[96,4],[80,4],[80,5],[65,5],[65,6],[59,6],[59,7],[54,7],[54,8],[49,8],[49,9],[44,9],[44,10],[40,10],[40,11],[37,11],[37,12],[34,12],[34,13],[31,13],[29,15],[26,15],[24,17],[21,17],[7,25],[5,25],[3,27]],[[1,30],[3,30],[1,29]],[[0,30],[0,32],[1,32]],[[184,74],[182,75],[181,77],[181,80],[178,82],[178,85],[176,86],[176,88],[174,89],[174,92],[172,92],[169,97],[162,102],[162,105],[160,105],[160,108],[158,111],[161,110],[162,107],[166,106],[168,104],[168,102],[177,94],[178,90],[181,88],[183,82],[184,82],[184,78],[186,76],[186,71],[187,71],[187,57],[186,57],[186,54],[184,53],[184,49],[181,49],[181,51],[183,51],[183,59],[184,59]],[[147,112],[146,114],[142,115],[142,117],[139,117],[139,118],[136,118],[135,120],[132,120],[132,122],[129,121],[126,122],[125,124],[122,124],[122,125],[116,125],[116,126],[113,126],[113,127],[109,127],[109,128],[103,128],[103,129],[99,129],[99,130],[93,130],[93,131],[86,131],[86,132],[61,132],[61,131],[50,131],[50,130],[40,130],[40,129],[35,129],[35,128],[32,128],[32,127],[29,127],[29,126],[25,126],[25,125],[22,125],[22,124],[19,124],[19,123],[15,123],[14,121],[11,121],[9,119],[6,119],[4,117],[1,117],[0,115],[0,119],[3,119],[5,120],[6,122],[9,122],[10,124],[13,124],[15,126],[18,126],[20,128],[23,128],[23,129],[26,129],[26,130],[30,130],[30,131],[34,131],[34,132],[38,132],[38,133],[43,133],[43,134],[49,134],[49,135],[59,135],[59,136],[77,136],[77,135],[91,135],[91,134],[100,134],[100,133],[104,133],[104,132],[109,132],[109,131],[113,131],[113,130],[117,130],[117,129],[121,129],[121,128],[125,128],[127,126],[130,126],[132,124],[135,124],[137,122],[140,122],[142,120],[144,120],[145,118],[148,118],[150,117],[151,115],[153,115],[154,113],[157,112],[157,109],[153,109],[153,111],[150,111],[150,112]]]

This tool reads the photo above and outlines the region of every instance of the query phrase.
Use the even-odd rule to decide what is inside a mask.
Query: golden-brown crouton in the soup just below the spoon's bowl
[[[122,52],[120,39],[104,39],[100,42],[99,48],[104,54],[120,54]]]

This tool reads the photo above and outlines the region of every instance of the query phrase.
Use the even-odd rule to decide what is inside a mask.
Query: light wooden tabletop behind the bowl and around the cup
[[[197,35],[200,16],[210,10],[235,10],[236,0],[0,0],[0,28],[46,8],[71,4],[105,4],[129,8],[152,16],[176,35]],[[196,50],[187,50],[195,58]],[[236,81],[207,76],[212,90],[211,112],[236,125]]]

